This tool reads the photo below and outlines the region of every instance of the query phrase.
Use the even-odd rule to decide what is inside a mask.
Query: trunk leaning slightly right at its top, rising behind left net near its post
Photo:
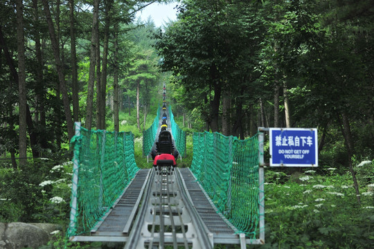
[[[96,46],[98,44],[98,7],[100,0],[94,1],[94,15],[92,17],[91,31],[91,54],[89,57],[89,83],[87,87],[87,114],[86,129],[92,128],[92,114],[94,107],[94,84],[95,84],[95,62],[96,62]]]

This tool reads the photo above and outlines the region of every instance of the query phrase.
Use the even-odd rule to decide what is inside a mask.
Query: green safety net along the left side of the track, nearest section
[[[68,237],[94,228],[139,170],[131,132],[81,127],[71,144],[74,168]]]

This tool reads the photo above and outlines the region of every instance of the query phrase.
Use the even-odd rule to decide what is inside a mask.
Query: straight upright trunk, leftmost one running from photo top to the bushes
[[[27,163],[26,134],[26,59],[24,38],[24,3],[17,0],[17,50],[18,50],[18,89],[19,89],[19,165]]]

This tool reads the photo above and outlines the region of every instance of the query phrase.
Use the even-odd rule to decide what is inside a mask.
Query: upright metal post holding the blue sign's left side
[[[258,128],[258,210],[260,213],[260,241],[265,243],[265,189],[264,189],[264,132],[268,129],[259,127]]]

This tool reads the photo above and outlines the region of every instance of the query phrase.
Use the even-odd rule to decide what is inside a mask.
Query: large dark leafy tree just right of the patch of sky
[[[260,74],[255,68],[262,30],[254,7],[237,1],[183,1],[179,21],[159,35],[156,47],[163,57],[163,71],[172,71],[189,95],[199,95],[200,89],[206,89],[202,100],[206,99],[208,111],[202,113],[206,113],[204,120],[212,131],[220,130],[222,110],[225,133],[235,123],[238,132],[244,100],[256,95],[246,91],[252,89]],[[241,106],[233,120],[228,119],[228,113],[235,109],[230,99]]]

